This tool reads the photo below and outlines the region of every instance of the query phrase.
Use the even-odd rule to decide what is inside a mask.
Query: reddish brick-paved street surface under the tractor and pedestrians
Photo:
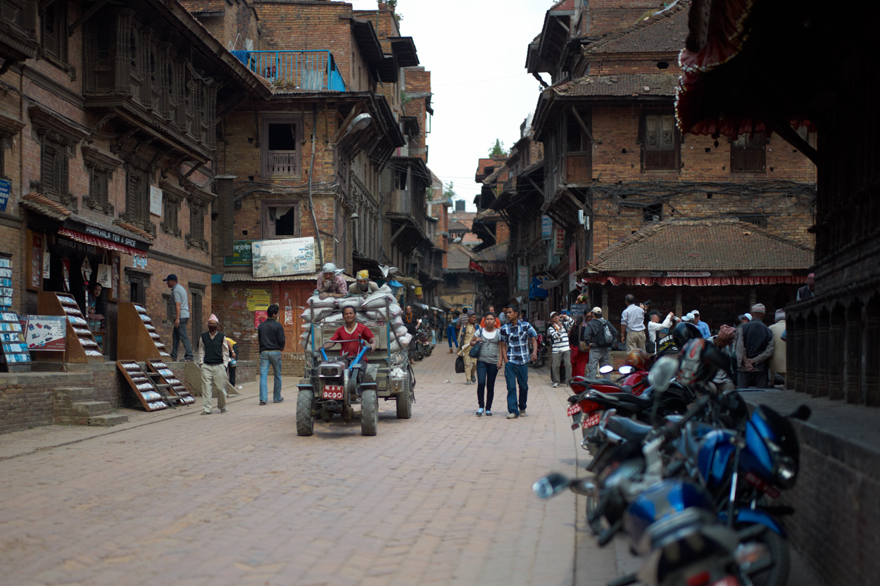
[[[0,436],[0,582],[572,584],[574,495],[531,488],[576,472],[567,392],[532,371],[530,416],[508,421],[500,378],[478,418],[437,349],[414,367],[413,418],[380,405],[376,437],[339,419],[297,437],[296,380],[280,405],[250,383],[227,414]],[[612,548],[584,543],[577,583],[614,577]]]

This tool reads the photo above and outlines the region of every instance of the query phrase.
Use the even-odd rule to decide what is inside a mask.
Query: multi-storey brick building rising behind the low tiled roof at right
[[[542,215],[552,221],[554,234],[563,231],[561,245],[554,243],[557,252],[563,251],[560,261],[529,268],[530,276],[543,268],[558,282],[552,302],[572,303],[578,289],[570,286],[568,275],[650,223],[733,219],[811,245],[816,169],[803,152],[763,128],[733,139],[678,132],[677,55],[684,48],[690,4],[647,13],[650,7],[637,2],[627,3],[622,12],[610,4],[589,9],[580,4],[554,4],[528,49],[527,69],[551,77],[532,121],[533,139],[543,144],[543,165],[521,172],[509,194],[482,202],[486,208],[521,209],[522,235],[532,243],[525,256],[546,250],[539,243]],[[805,143],[816,143],[808,128],[796,132]],[[511,226],[511,239],[517,238],[515,232]],[[511,253],[515,250],[511,246]],[[719,262],[737,264],[727,260]],[[671,269],[656,267],[655,272],[663,270]],[[686,296],[737,296],[743,309],[709,317],[716,328],[730,323],[753,299],[770,306],[794,301],[807,272],[801,267],[777,275],[772,284],[744,279],[737,285],[752,283],[744,290],[695,290]],[[643,297],[632,287],[615,290],[603,275],[592,280],[585,271],[582,277],[595,304],[611,298],[606,315],[612,320],[619,319],[626,293]],[[678,286],[704,289],[705,283],[694,279]],[[665,297],[669,304],[660,309],[673,310],[675,294]],[[685,311],[691,309],[686,305]]]

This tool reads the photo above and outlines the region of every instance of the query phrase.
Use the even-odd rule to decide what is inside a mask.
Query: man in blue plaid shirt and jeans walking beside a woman
[[[501,327],[501,341],[498,342],[498,370],[504,367],[504,379],[507,381],[507,410],[510,412],[507,418],[517,419],[525,417],[525,401],[529,396],[529,341],[532,341],[532,360],[536,360],[538,333],[527,321],[519,319],[517,305],[504,308],[504,313],[507,323]]]

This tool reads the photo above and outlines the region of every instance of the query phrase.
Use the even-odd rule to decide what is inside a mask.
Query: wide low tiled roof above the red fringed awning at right
[[[590,260],[600,273],[810,268],[813,247],[734,219],[651,223]]]

